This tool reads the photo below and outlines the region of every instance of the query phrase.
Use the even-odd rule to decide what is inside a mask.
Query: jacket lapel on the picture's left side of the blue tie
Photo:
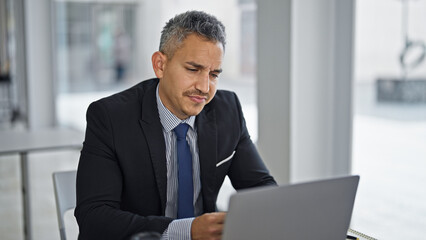
[[[167,166],[166,146],[164,143],[163,129],[158,115],[156,86],[153,84],[147,89],[142,101],[142,119],[140,124],[148,143],[152,166],[160,194],[161,210],[163,214],[167,202]]]

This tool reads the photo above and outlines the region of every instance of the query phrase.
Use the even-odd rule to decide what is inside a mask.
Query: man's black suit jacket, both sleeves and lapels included
[[[173,220],[164,216],[167,169],[157,84],[147,80],[89,106],[77,172],[79,239],[162,233]],[[226,175],[236,189],[276,184],[250,140],[234,93],[217,91],[195,124],[204,212],[215,211]]]

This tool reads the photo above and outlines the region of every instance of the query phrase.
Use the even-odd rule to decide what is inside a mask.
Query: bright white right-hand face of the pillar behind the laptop
[[[292,180],[350,172],[353,1],[294,2]]]

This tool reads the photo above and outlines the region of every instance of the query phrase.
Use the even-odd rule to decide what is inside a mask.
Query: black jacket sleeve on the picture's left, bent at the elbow
[[[172,221],[120,209],[123,178],[115,154],[114,133],[102,102],[87,110],[87,129],[77,171],[79,239],[128,239],[144,231],[162,233]]]

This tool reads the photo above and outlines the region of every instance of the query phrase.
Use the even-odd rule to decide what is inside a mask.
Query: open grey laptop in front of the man
[[[223,240],[344,240],[359,176],[239,191]]]

